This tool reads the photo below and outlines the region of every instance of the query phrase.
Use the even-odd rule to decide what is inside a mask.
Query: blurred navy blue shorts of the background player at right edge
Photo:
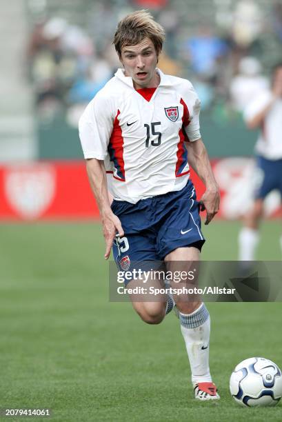
[[[261,177],[254,197],[264,199],[272,190],[279,190],[282,197],[282,159],[268,160],[257,157],[256,166]]]

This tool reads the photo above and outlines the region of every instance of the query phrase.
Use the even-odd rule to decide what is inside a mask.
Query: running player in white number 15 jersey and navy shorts
[[[105,259],[113,246],[121,268],[133,261],[199,261],[205,241],[199,207],[206,210],[206,224],[219,210],[219,189],[199,132],[200,102],[190,81],[157,68],[163,41],[163,28],[145,10],[122,19],[114,46],[123,69],[90,101],[79,121]],[[205,183],[201,204],[188,161]],[[172,308],[169,299],[132,305],[149,324],[160,323]],[[177,309],[194,395],[202,401],[219,399],[209,368],[208,309],[201,301],[177,301]]]

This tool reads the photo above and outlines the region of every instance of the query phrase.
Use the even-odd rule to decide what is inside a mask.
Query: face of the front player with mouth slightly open
[[[137,90],[156,88],[159,85],[157,61],[157,52],[148,37],[136,46],[121,48],[121,63],[125,69],[125,76],[132,77],[134,88]]]

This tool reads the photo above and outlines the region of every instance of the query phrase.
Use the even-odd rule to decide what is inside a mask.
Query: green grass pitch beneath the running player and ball
[[[259,259],[281,259],[280,224],[263,224]],[[203,259],[236,259],[239,227],[204,228]],[[61,422],[282,420],[282,403],[240,408],[228,390],[245,358],[282,366],[280,303],[208,304],[221,400],[199,403],[179,321],[145,325],[130,303],[109,303],[103,252],[97,223],[0,225],[0,408],[50,408]]]

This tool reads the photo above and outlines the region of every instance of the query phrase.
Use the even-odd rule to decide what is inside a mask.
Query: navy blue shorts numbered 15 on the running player
[[[194,245],[201,250],[205,243],[191,181],[182,190],[136,204],[114,200],[112,212],[121,220],[125,233],[112,247],[114,260],[123,270],[130,261],[162,261],[174,249]]]

